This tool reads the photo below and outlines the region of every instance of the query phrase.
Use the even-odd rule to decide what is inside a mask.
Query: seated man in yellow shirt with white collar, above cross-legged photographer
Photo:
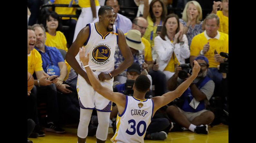
[[[207,76],[214,83],[220,83],[222,74],[218,72],[217,66],[224,62],[220,52],[228,53],[228,35],[218,31],[219,17],[212,13],[205,18],[205,31],[192,39],[190,46],[190,63],[196,56],[204,55],[209,60]]]

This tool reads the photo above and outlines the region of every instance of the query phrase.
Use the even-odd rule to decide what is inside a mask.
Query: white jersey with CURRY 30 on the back
[[[117,116],[117,130],[111,138],[114,143],[144,143],[147,127],[152,119],[152,99],[140,100],[126,96],[124,112]]]

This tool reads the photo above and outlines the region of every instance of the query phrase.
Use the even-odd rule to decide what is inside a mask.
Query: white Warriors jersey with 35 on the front
[[[97,22],[96,22],[97,23]],[[118,43],[118,31],[113,25],[113,32],[107,33],[103,36],[98,30],[96,23],[89,23],[89,36],[84,43],[86,53],[89,52],[89,65],[92,70],[100,72],[111,72],[114,70],[114,54],[116,45]],[[79,60],[79,53],[76,55],[76,60],[81,66]]]

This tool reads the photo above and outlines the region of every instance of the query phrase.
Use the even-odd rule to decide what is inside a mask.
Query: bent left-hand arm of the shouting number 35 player
[[[89,36],[89,26],[86,26],[83,28],[77,35],[76,40],[73,42],[73,44],[70,46],[67,54],[66,54],[66,61],[68,64],[79,74],[81,75],[88,84],[90,84],[90,81],[88,79],[88,76],[86,72],[81,68],[81,66],[78,64],[75,56],[79,52],[79,48],[83,46],[83,44],[86,42],[88,36]],[[91,85],[91,84],[90,84]]]

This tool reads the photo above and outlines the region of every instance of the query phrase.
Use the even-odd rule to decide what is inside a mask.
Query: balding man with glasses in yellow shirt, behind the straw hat
[[[152,77],[152,84],[155,85],[155,95],[161,96],[166,92],[166,79],[165,74],[162,71],[158,70],[158,63],[156,61],[153,61],[149,41],[143,37],[147,26],[147,20],[143,17],[136,17],[132,21],[132,29],[140,31],[141,41],[145,45],[144,60],[148,64],[148,74]]]

